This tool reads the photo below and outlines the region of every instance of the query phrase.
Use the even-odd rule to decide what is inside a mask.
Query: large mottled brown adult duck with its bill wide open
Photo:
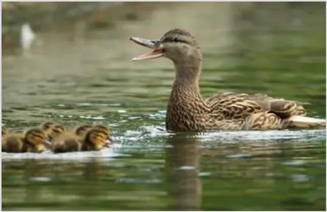
[[[159,40],[136,37],[130,40],[152,49],[133,61],[165,56],[174,62],[175,81],[166,114],[169,131],[272,130],[326,125],[326,120],[304,117],[304,103],[265,94],[225,92],[203,99],[199,88],[202,53],[195,37],[185,30],[170,30]]]

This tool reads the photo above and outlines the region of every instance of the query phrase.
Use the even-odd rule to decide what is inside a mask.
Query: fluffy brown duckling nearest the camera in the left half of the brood
[[[2,152],[35,152],[46,149],[47,136],[39,128],[33,128],[26,133],[11,133],[2,138]]]

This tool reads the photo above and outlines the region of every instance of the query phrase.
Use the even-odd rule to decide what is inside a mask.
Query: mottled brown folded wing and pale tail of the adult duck
[[[310,128],[325,126],[325,120],[305,117],[304,105],[284,98],[274,98],[267,94],[224,92],[204,99],[212,113],[221,120],[230,120],[240,125],[242,130],[271,130],[282,128]],[[223,121],[223,122],[225,122]],[[223,123],[222,122],[222,123]],[[229,123],[222,128],[229,129]]]

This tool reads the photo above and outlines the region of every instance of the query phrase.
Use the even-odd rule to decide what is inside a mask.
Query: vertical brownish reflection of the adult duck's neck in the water
[[[179,133],[168,138],[172,148],[166,149],[169,195],[175,210],[199,210],[202,182],[198,176],[201,153],[194,133]]]

